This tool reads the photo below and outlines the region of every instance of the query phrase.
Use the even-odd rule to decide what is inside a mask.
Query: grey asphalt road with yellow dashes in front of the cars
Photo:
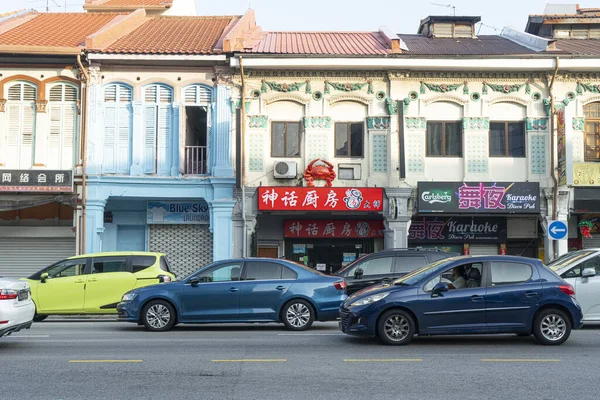
[[[0,339],[6,399],[598,399],[600,326],[562,346],[515,335],[404,347],[280,325],[45,321]]]

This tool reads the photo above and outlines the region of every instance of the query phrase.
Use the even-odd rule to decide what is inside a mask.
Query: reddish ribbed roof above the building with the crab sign
[[[386,55],[391,49],[378,32],[266,32],[251,53]]]

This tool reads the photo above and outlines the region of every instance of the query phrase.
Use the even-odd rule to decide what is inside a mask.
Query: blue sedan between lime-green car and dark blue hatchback
[[[172,283],[134,289],[117,305],[118,319],[167,331],[177,323],[282,322],[306,330],[339,318],[343,279],[268,258],[215,262]]]

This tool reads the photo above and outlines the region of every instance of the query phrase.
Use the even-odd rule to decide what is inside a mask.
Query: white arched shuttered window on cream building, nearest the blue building
[[[50,136],[48,167],[73,168],[73,148],[77,132],[77,88],[60,83],[50,88]]]

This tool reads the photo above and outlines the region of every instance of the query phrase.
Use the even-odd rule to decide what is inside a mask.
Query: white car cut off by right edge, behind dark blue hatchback
[[[600,322],[600,249],[564,254],[548,267],[575,288],[583,322]]]

